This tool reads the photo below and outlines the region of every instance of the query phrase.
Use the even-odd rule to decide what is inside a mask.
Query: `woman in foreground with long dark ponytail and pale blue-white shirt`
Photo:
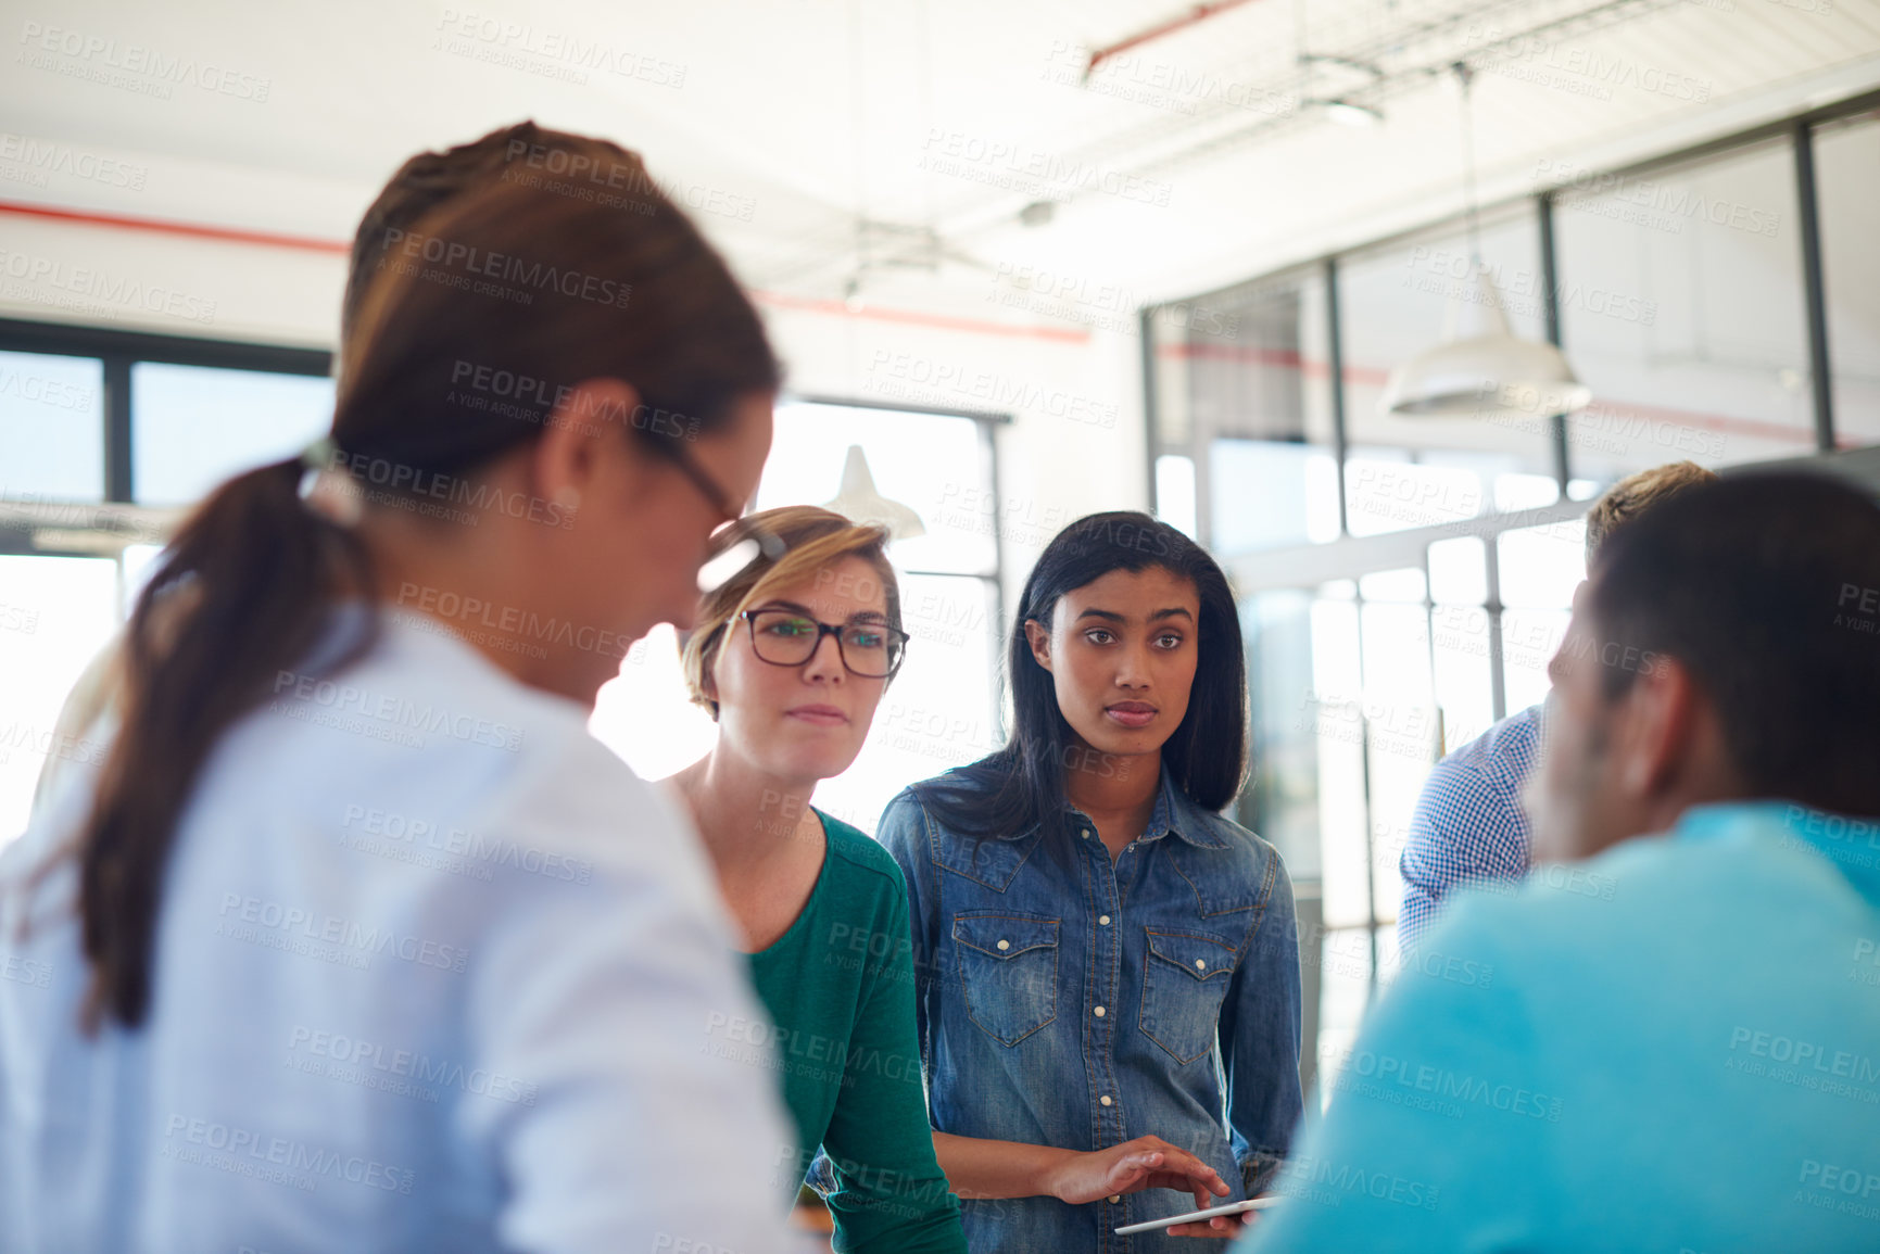
[[[182,525],[102,771],[0,855],[0,1248],[782,1245],[775,1089],[699,1049],[761,1015],[711,870],[587,731],[778,367],[632,152],[438,162],[479,173],[367,259],[331,434]]]

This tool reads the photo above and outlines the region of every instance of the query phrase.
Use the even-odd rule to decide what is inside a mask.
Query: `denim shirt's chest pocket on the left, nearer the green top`
[[[1002,1045],[1057,1019],[1058,919],[996,910],[953,916],[966,1017]]]

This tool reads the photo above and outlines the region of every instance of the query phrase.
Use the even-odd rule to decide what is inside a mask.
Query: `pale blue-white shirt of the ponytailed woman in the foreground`
[[[92,773],[0,854],[0,1248],[788,1248],[773,1074],[711,1047],[761,1010],[690,825],[573,701],[382,622],[212,750],[139,1030],[79,1028],[56,850]]]

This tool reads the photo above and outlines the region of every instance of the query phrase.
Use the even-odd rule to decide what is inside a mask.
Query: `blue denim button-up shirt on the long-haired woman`
[[[1096,823],[983,840],[902,792],[876,839],[908,882],[932,1126],[1096,1151],[1158,1136],[1231,1194],[1273,1179],[1299,1094],[1299,938],[1278,850],[1190,801],[1167,769],[1111,859]],[[1226,1113],[1226,1122],[1222,1121]],[[1089,1205],[963,1199],[976,1250],[1188,1250],[1115,1228],[1194,1209],[1152,1188]]]

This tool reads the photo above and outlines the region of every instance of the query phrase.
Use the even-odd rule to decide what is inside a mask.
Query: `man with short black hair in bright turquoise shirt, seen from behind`
[[[1880,506],[1683,493],[1549,671],[1555,874],[1459,893],[1248,1250],[1880,1248]]]

